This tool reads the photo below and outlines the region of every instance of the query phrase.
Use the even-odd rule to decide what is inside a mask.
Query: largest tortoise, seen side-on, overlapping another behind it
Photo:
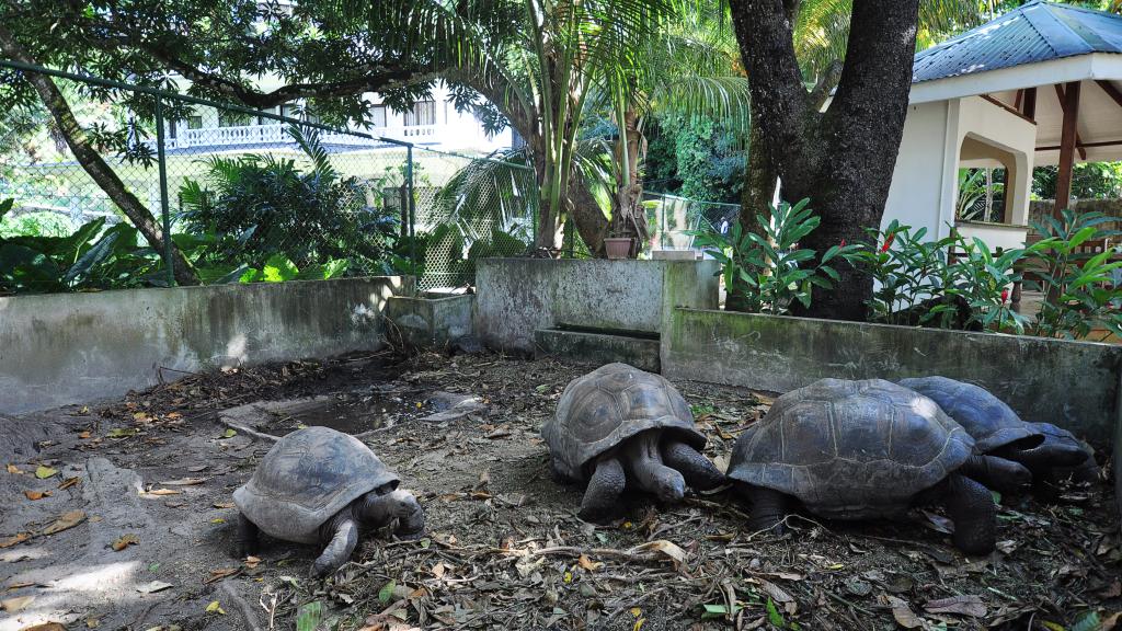
[[[996,540],[984,483],[1019,468],[990,458],[975,455],[974,439],[921,394],[883,379],[821,379],[776,399],[741,435],[728,477],[752,503],[753,530],[781,531],[791,497],[843,520],[894,518],[941,501],[955,545],[980,555]]]

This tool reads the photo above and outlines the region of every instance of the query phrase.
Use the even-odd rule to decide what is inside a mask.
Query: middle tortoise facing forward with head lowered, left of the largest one
[[[608,364],[565,386],[557,415],[542,428],[553,475],[588,483],[580,518],[604,522],[619,513],[625,487],[660,500],[681,500],[689,485],[707,491],[725,482],[705,456],[682,395],[661,375]]]

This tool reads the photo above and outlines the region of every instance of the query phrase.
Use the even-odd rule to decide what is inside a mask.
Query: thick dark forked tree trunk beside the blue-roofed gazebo
[[[840,80],[829,108],[821,82],[802,82],[794,55],[798,0],[732,0],[733,25],[751,77],[753,143],[741,221],[767,214],[775,176],[782,196],[810,199],[821,225],[800,244],[825,252],[867,243],[881,223],[903,134],[916,51],[918,0],[854,0]],[[825,93],[822,92],[825,90]],[[837,265],[834,290],[815,287],[800,314],[864,320],[873,281]],[[729,309],[739,303],[733,300]]]

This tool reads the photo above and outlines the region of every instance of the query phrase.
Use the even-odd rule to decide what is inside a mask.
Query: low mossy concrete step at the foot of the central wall
[[[537,357],[557,357],[573,364],[603,366],[613,362],[659,372],[659,340],[589,331],[537,329],[534,331]]]

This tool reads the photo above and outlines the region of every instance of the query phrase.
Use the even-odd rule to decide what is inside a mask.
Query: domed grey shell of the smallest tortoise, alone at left
[[[296,430],[273,446],[233,503],[267,534],[314,543],[344,506],[399,478],[361,440],[324,427]]]

